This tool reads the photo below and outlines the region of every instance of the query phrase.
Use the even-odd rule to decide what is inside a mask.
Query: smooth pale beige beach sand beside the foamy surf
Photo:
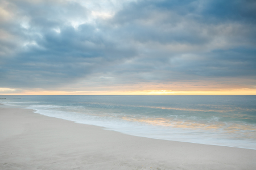
[[[256,150],[134,137],[0,106],[0,169],[256,169]]]

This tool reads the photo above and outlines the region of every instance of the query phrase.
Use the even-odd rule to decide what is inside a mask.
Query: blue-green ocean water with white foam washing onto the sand
[[[256,96],[0,98],[6,98],[0,99],[0,103],[9,107],[30,108],[34,113],[124,134],[256,149]]]

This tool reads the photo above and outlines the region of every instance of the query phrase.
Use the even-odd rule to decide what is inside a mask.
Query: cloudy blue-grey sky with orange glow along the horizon
[[[256,1],[0,0],[0,95],[256,95]]]

